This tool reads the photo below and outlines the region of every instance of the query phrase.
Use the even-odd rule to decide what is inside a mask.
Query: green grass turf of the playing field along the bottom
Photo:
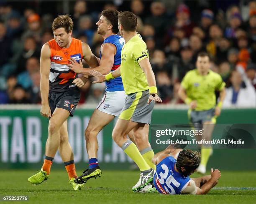
[[[103,169],[102,177],[90,179],[84,188],[75,192],[68,184],[67,173],[63,170],[52,170],[50,178],[40,185],[32,185],[28,177],[36,171],[3,170],[0,174],[0,195],[28,196],[24,204],[255,204],[256,190],[220,190],[212,189],[207,195],[161,195],[141,194],[131,191],[138,181],[136,171],[107,171]],[[81,171],[77,171],[78,174]],[[216,187],[256,187],[254,172],[222,172]],[[200,174],[195,173],[195,177]],[[17,203],[18,201],[6,203]]]

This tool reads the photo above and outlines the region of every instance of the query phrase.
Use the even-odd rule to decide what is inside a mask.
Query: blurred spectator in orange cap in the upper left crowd
[[[42,36],[40,16],[37,13],[33,13],[28,16],[27,22],[28,22],[28,30],[25,30],[21,39],[25,40],[27,37],[32,36],[37,43],[40,43],[41,36]]]

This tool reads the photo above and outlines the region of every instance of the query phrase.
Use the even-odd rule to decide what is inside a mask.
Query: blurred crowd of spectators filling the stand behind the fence
[[[43,3],[0,1],[0,104],[41,102],[40,50],[53,38],[54,18],[65,14],[55,9],[59,1]],[[227,84],[226,107],[256,106],[256,0],[71,1],[73,37],[87,42],[96,56],[103,41],[96,22],[105,9],[137,15],[164,103],[183,103],[180,82],[196,68],[197,54],[207,51],[211,70]],[[80,103],[98,103],[104,91],[103,83],[87,82]]]

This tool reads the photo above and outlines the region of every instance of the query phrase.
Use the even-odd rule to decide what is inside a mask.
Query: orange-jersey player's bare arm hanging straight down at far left
[[[42,97],[41,115],[51,117],[51,109],[49,107],[49,74],[51,67],[51,49],[48,43],[45,43],[41,49],[40,57],[40,90]]]

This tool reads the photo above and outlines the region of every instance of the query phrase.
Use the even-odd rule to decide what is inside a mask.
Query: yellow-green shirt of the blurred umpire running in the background
[[[215,107],[215,90],[223,90],[225,82],[212,70],[207,75],[200,75],[195,69],[187,72],[181,85],[186,90],[187,97],[197,101],[195,110],[200,111]]]

